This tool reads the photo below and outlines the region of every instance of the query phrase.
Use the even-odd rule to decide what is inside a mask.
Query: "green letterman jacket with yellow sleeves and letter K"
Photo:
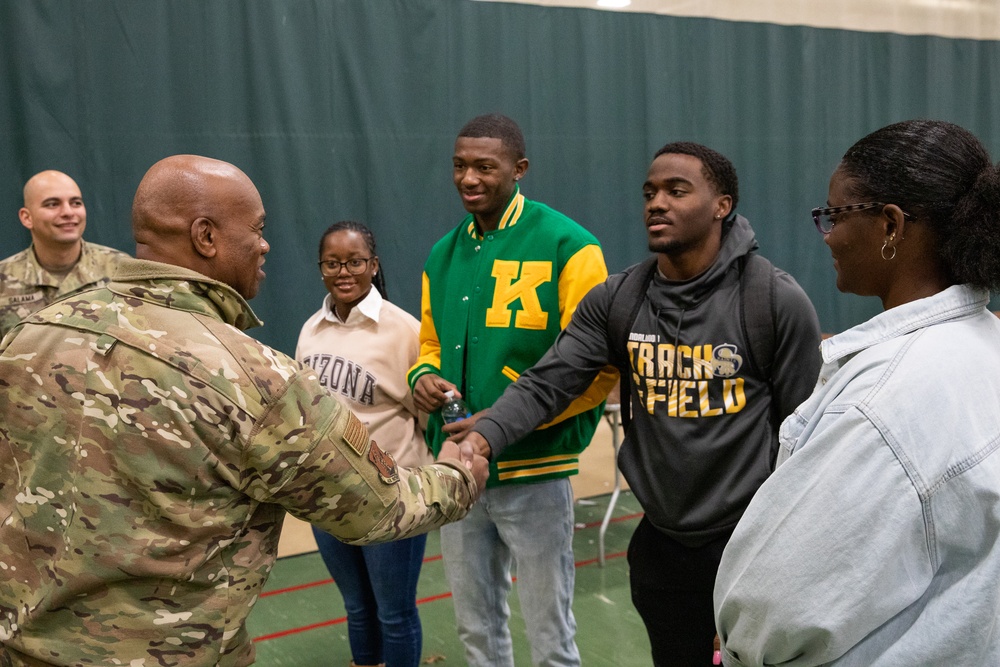
[[[480,234],[468,215],[434,245],[424,265],[411,390],[421,375],[434,373],[459,387],[472,412],[490,407],[606,278],[593,234],[519,189],[496,230]],[[566,412],[504,450],[490,462],[487,486],[575,475],[617,379],[609,368]],[[447,435],[441,426],[441,415],[432,414],[426,439],[435,455]]]

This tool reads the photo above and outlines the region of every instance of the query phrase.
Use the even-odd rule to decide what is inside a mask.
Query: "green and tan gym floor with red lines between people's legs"
[[[629,538],[642,510],[627,489],[615,503],[605,534],[604,566],[599,562],[601,521],[614,488],[610,419],[602,421],[593,442],[581,456],[580,474],[572,478],[577,524],[573,540],[576,555],[573,612],[577,644],[583,664],[588,667],[650,663],[649,640],[629,595],[625,559]],[[343,600],[315,549],[309,527],[287,518],[278,562],[248,622],[257,649],[256,664],[262,667],[350,664]],[[465,664],[436,531],[428,536],[417,602],[424,630],[423,664]],[[530,665],[516,579],[509,602],[515,663]]]

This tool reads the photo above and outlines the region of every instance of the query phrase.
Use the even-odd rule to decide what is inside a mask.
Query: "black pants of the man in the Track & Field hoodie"
[[[656,667],[712,664],[712,590],[731,531],[700,547],[667,537],[645,517],[628,545],[632,604],[639,611]]]

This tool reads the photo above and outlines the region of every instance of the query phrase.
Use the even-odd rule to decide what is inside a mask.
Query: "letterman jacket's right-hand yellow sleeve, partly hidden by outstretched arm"
[[[587,292],[608,279],[608,267],[604,263],[604,253],[598,245],[588,245],[573,255],[562,273],[559,274],[559,327],[565,329],[573,318],[576,306]],[[618,371],[607,366],[598,373],[587,391],[569,404],[555,419],[542,425],[546,428],[558,424],[581,412],[596,408],[618,382]]]

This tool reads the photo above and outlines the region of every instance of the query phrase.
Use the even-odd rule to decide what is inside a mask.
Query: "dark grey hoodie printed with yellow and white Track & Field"
[[[747,363],[737,260],[756,248],[746,218],[726,221],[719,255],[700,275],[654,274],[629,335],[632,422],[618,463],[646,517],[689,546],[736,526],[773,469],[777,424],[819,373],[816,311],[780,269],[770,386]],[[559,414],[609,363],[607,318],[623,278],[591,290],[552,348],[476,424],[494,456]]]

